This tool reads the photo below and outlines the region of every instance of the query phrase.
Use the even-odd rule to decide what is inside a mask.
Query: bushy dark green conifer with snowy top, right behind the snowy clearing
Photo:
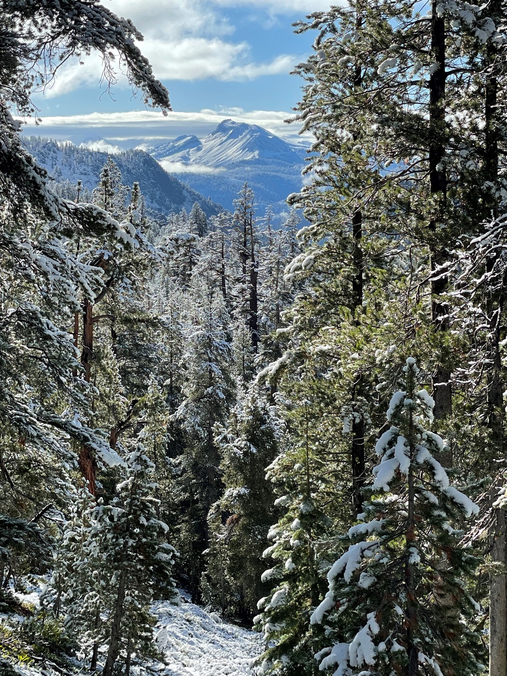
[[[224,614],[247,620],[268,592],[261,581],[266,567],[262,552],[275,509],[273,487],[265,475],[278,454],[283,423],[257,385],[246,392],[238,386],[237,391],[228,424],[215,430],[224,493],[208,514],[210,593],[205,600]]]

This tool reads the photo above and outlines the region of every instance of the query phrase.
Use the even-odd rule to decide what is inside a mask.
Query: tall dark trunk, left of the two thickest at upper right
[[[445,22],[438,16],[439,0],[432,2],[431,53],[437,69],[429,79],[429,182],[431,195],[437,196],[439,209],[430,220],[429,229],[433,234],[431,243],[431,271],[435,272],[447,260],[443,243],[439,242],[439,230],[444,218],[447,197],[447,176],[445,173]],[[437,331],[448,331],[448,305],[442,295],[448,285],[447,276],[431,282],[431,320]],[[445,418],[452,412],[451,372],[448,364],[439,363],[433,372],[433,399],[435,418]],[[450,463],[446,463],[450,464]]]

